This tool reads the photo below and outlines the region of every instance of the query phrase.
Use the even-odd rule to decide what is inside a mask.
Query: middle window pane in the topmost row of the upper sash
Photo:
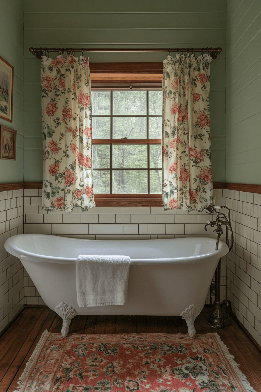
[[[113,91],[113,114],[146,114],[146,91]]]

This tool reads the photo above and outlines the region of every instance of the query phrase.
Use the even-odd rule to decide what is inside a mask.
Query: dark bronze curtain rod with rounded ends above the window
[[[49,52],[58,52],[59,54],[67,52],[68,54],[72,54],[74,52],[209,52],[212,58],[217,58],[217,55],[220,54],[221,48],[33,48],[30,47],[29,51],[32,54],[35,54],[37,58],[41,58],[43,52],[45,55]]]

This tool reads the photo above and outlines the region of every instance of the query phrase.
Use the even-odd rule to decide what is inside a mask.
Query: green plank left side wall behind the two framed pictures
[[[13,122],[16,161],[0,160],[0,183],[23,181],[23,0],[0,0],[0,56],[14,67]]]

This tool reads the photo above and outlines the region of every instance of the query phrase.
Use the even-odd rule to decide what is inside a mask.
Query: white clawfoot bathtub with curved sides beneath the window
[[[225,243],[206,237],[168,240],[78,240],[43,234],[19,234],[5,244],[20,258],[41,298],[58,307],[63,319],[78,314],[180,315],[193,335],[194,318],[205,304]],[[79,254],[130,256],[128,299],[125,305],[79,307],[76,260]],[[68,305],[66,307],[62,303]],[[59,310],[60,309],[60,310]],[[57,309],[56,309],[57,310]],[[67,316],[66,316],[67,314]],[[68,329],[68,328],[67,328]]]

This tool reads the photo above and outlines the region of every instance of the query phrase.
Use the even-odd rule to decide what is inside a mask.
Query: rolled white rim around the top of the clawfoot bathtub
[[[5,243],[4,243],[4,248],[12,254],[13,256],[16,256],[20,258],[20,260],[26,260],[26,261],[34,261],[34,262],[40,262],[40,263],[58,263],[58,264],[75,264],[77,258],[65,258],[65,257],[57,257],[57,256],[46,256],[46,255],[41,255],[41,254],[36,254],[32,252],[28,252],[26,250],[23,250],[16,246],[14,244],[14,238],[17,237],[26,237],[26,236],[34,236],[34,237],[54,237],[52,234],[17,234],[15,236],[9,237]],[[59,237],[59,236],[58,236]],[[60,237],[63,238],[63,237]],[[183,238],[171,238],[171,239],[162,239],[162,240],[83,240],[79,238],[70,238],[67,237],[67,240],[71,240],[74,242],[78,241],[101,241],[101,242],[112,242],[112,241],[169,241],[169,240],[176,240],[181,242],[187,240],[188,238],[195,238],[195,237],[183,237]],[[213,243],[216,243],[216,239],[214,238],[208,238],[208,237],[203,237],[203,236],[196,236],[196,238],[203,238],[204,240],[211,240]],[[225,256],[229,251],[228,246],[223,242],[219,241],[219,246],[218,250],[214,250],[213,252],[205,253],[202,255],[196,255],[196,256],[187,256],[187,257],[178,257],[178,258],[155,258],[155,259],[130,259],[130,265],[137,265],[137,264],[198,264],[198,263],[203,263],[207,260],[216,260],[221,258],[222,256]]]

